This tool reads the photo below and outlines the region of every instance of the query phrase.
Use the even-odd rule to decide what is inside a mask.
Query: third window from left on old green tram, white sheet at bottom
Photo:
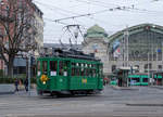
[[[58,62],[50,61],[50,76],[57,76],[57,70],[58,70]]]

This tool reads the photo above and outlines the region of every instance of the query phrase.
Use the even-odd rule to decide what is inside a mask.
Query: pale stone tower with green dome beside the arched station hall
[[[93,53],[96,57],[101,60],[105,76],[109,75],[108,42],[108,34],[98,25],[87,30],[85,34],[85,41],[83,42],[84,53]]]

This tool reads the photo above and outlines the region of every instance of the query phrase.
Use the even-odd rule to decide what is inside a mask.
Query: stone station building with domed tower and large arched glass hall
[[[103,62],[104,75],[118,67],[137,67],[137,73],[163,69],[163,26],[140,24],[108,36],[98,25],[85,35],[83,50]]]

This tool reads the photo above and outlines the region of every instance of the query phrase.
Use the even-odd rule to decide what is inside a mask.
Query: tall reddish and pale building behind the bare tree
[[[0,16],[5,16],[5,12],[8,9],[8,0],[1,0],[0,1]],[[33,3],[32,0],[17,0],[17,6],[23,6],[25,5],[27,11],[30,12],[30,14],[33,15],[33,18],[29,21],[30,22],[30,26],[32,28],[28,30],[30,32],[33,32],[32,41],[35,42],[36,44],[36,51],[32,52],[32,60],[34,60],[35,56],[38,56],[39,54],[39,50],[43,47],[43,20],[42,20],[42,12],[37,8],[37,5],[35,3]],[[18,16],[18,15],[17,15]],[[20,17],[21,18],[21,17]],[[4,29],[1,28],[0,26],[0,35],[4,36]],[[17,56],[14,60],[14,74],[25,74],[26,73],[26,66],[27,66],[27,53],[23,53],[23,56],[20,54],[22,53],[17,53]],[[34,63],[34,62],[32,62]],[[4,64],[4,62],[1,60],[0,61],[0,68],[4,69],[7,73],[7,65]]]

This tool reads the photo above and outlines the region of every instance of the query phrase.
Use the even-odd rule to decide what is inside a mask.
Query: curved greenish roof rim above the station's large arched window
[[[131,26],[128,28],[125,28],[123,30],[120,30],[117,32],[115,32],[114,35],[110,36],[108,39],[110,41],[110,43],[112,43],[114,40],[116,39],[122,39],[125,35],[125,32],[128,31],[128,35],[134,35],[140,31],[143,31],[145,29],[150,29],[151,31],[155,31],[159,34],[163,34],[163,26],[159,26],[155,24],[140,24],[140,25],[136,25],[136,26]]]

